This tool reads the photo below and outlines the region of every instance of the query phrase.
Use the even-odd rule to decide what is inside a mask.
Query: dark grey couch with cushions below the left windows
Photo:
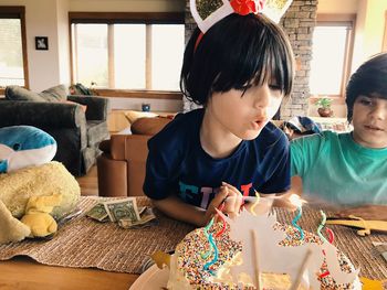
[[[41,93],[9,86],[0,100],[0,127],[29,125],[46,131],[57,143],[53,160],[81,176],[101,154],[100,142],[109,137],[108,105],[107,98],[69,95],[64,85]]]

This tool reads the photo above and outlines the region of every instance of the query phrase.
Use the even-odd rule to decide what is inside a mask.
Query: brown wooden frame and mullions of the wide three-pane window
[[[184,24],[184,12],[69,12],[69,34],[70,34],[70,62],[71,62],[71,83],[74,83],[74,60],[73,60],[73,37],[72,24]],[[108,26],[108,30],[112,26]],[[148,30],[149,26],[146,26]],[[112,33],[108,33],[112,35]],[[147,37],[150,34],[147,31]],[[109,36],[108,36],[109,37]],[[108,46],[112,45],[112,39],[108,39]],[[148,75],[150,75],[150,57],[147,41],[147,62],[146,62],[146,86],[149,86]],[[109,83],[114,76],[113,69],[113,52],[108,50],[108,77]],[[113,89],[97,88],[98,95],[107,97],[124,97],[124,98],[156,98],[156,99],[182,99],[180,92],[169,90],[150,90],[150,89]]]

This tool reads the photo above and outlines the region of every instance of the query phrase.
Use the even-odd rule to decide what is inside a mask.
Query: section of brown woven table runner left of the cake
[[[95,197],[82,197],[79,207],[85,213],[96,203]],[[145,206],[149,202],[146,197],[138,197],[137,204]],[[140,273],[149,255],[157,250],[174,250],[192,230],[188,224],[157,215],[157,226],[123,229],[117,224],[98,223],[83,214],[60,227],[51,240],[25,239],[1,245],[0,260],[24,255],[51,266]]]

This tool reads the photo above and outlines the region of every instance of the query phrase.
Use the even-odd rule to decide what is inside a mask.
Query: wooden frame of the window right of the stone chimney
[[[347,39],[345,43],[345,55],[344,55],[344,63],[343,63],[343,74],[342,74],[342,84],[338,95],[313,95],[312,98],[321,98],[321,97],[328,97],[337,100],[345,99],[345,88],[346,84],[351,77],[351,69],[352,69],[352,60],[353,60],[353,52],[354,52],[354,41],[355,41],[355,28],[356,28],[356,14],[331,14],[331,13],[318,13],[316,17],[316,26],[328,26],[328,25],[346,25],[351,29],[347,31]]]

